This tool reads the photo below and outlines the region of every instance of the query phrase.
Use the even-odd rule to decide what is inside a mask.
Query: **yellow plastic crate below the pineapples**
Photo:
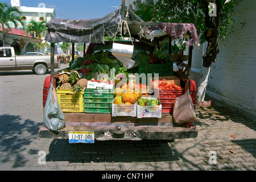
[[[70,89],[56,89],[57,99],[63,112],[81,113],[84,111],[82,90],[73,94]]]

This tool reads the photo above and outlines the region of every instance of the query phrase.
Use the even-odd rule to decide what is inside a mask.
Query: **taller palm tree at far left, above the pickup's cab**
[[[5,46],[5,26],[11,30],[9,22],[13,22],[17,28],[19,23],[24,27],[22,11],[18,6],[10,6],[6,2],[0,2],[0,24],[3,28],[3,46]]]

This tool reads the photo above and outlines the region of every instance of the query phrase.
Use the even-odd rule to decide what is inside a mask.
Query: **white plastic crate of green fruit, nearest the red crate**
[[[162,118],[162,105],[159,105],[159,106],[137,105],[137,118]]]

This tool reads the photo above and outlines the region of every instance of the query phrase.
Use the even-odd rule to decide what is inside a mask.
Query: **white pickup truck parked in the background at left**
[[[54,68],[60,66],[54,56]],[[0,71],[32,69],[36,75],[44,75],[51,68],[51,55],[15,55],[13,47],[0,47]]]

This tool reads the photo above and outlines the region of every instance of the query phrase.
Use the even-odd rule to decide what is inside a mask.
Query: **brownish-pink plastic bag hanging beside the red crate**
[[[196,119],[196,111],[189,89],[182,96],[175,98],[173,117],[177,124],[191,122]]]

